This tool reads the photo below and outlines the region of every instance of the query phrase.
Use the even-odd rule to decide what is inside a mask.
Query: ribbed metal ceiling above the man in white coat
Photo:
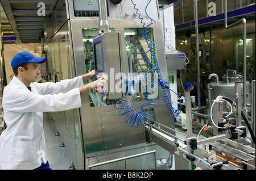
[[[40,33],[51,17],[58,0],[0,0],[3,36],[15,36],[18,43],[39,43]],[[184,0],[159,0],[159,8]],[[45,16],[39,16],[39,3],[46,7]]]

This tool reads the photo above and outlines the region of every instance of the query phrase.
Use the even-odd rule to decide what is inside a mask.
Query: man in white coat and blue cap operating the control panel
[[[14,56],[14,78],[3,90],[3,112],[7,129],[0,136],[0,169],[50,169],[43,130],[43,112],[65,111],[81,107],[81,95],[101,86],[108,77],[87,83],[94,71],[73,79],[37,83],[38,64],[28,52]],[[86,84],[85,84],[86,83]]]

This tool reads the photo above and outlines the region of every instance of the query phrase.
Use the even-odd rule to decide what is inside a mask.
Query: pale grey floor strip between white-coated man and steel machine
[[[55,136],[56,128],[44,113],[44,134],[46,137],[46,149],[49,166],[52,170],[68,170],[71,159],[65,147],[60,147],[61,137]]]

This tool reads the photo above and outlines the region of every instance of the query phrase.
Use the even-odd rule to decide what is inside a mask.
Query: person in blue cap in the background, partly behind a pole
[[[190,91],[190,95],[194,95],[195,96],[195,99],[196,99],[196,106],[198,106],[198,96],[197,96],[197,85],[193,85],[192,83],[190,82],[186,82],[185,85],[184,85],[184,90],[187,91],[189,90]],[[200,97],[201,97],[201,106],[205,106],[205,104],[207,103],[206,101],[206,96],[204,94],[204,91],[203,89],[201,89],[200,87]]]

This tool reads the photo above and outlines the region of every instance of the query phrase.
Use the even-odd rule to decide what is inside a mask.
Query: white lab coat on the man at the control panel
[[[31,83],[14,77],[3,91],[7,129],[0,136],[0,169],[36,169],[47,162],[43,112],[81,107],[82,77],[57,83]],[[42,160],[42,162],[41,162]]]

